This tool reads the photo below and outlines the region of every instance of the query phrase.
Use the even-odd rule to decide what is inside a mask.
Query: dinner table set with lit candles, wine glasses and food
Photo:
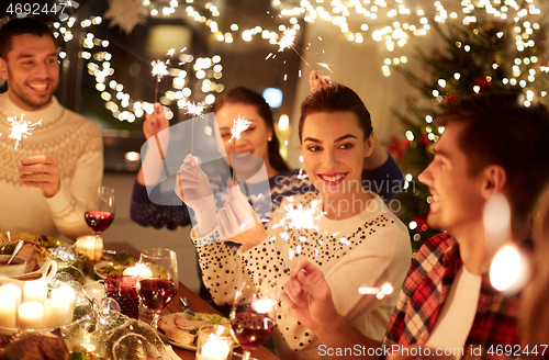
[[[277,359],[179,282],[175,251],[103,244],[114,194],[97,193],[94,236],[0,234],[0,358],[40,339],[52,359]]]

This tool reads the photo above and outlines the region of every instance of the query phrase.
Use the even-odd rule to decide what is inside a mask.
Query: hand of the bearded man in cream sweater
[[[21,160],[21,183],[42,190],[45,198],[57,194],[61,188],[57,159],[49,155],[35,155]]]

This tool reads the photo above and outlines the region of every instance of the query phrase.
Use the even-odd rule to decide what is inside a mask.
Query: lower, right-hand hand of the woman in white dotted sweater
[[[240,188],[233,184],[231,179],[228,181],[228,198],[219,214],[220,235],[226,240],[242,244],[246,251],[262,243],[267,238],[267,230]]]

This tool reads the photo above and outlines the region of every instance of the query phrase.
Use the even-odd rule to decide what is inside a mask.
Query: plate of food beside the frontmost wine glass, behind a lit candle
[[[177,345],[194,347],[198,330],[201,326],[206,325],[224,325],[227,327],[227,334],[231,333],[231,322],[228,318],[217,314],[202,313],[194,316],[187,313],[163,316],[158,322],[158,329],[167,339]]]

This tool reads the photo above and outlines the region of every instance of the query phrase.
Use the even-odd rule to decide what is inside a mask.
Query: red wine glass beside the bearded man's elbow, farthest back
[[[114,220],[114,189],[109,187],[91,189],[83,218],[96,234],[96,248],[98,248],[99,235],[111,226]]]

